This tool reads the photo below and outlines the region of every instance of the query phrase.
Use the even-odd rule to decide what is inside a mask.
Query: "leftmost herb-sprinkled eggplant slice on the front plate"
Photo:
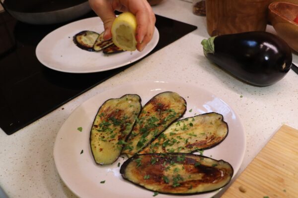
[[[90,147],[97,164],[116,161],[141,109],[138,95],[108,99],[100,106],[90,132]]]

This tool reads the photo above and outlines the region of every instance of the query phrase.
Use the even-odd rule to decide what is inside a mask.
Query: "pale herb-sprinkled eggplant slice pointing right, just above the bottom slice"
[[[205,113],[174,122],[140,153],[190,153],[212,148],[220,144],[227,133],[223,115]]]

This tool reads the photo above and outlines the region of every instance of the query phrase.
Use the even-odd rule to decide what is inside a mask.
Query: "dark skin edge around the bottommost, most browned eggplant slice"
[[[122,178],[125,179],[126,181],[128,181],[128,182],[130,182],[130,183],[132,183],[132,184],[134,184],[134,185],[136,185],[136,186],[138,186],[138,187],[141,187],[142,189],[146,189],[146,190],[151,191],[151,192],[157,192],[157,191],[153,191],[153,190],[147,189],[147,188],[145,188],[145,187],[139,185],[138,183],[135,183],[135,182],[132,182],[132,181],[128,180],[128,179],[124,176],[124,174],[125,174],[125,169],[126,169],[127,165],[128,165],[133,159],[138,158],[139,156],[142,156],[142,155],[151,155],[151,154],[155,154],[155,155],[168,155],[168,154],[173,154],[173,155],[175,155],[175,154],[183,154],[183,155],[185,155],[185,156],[187,156],[187,155],[194,155],[194,154],[192,154],[192,153],[182,153],[182,152],[170,152],[170,153],[145,153],[145,154],[135,154],[135,155],[133,155],[132,157],[128,158],[128,159],[121,165],[121,167],[120,167],[120,174],[121,174]],[[211,158],[211,157],[204,156],[204,155],[200,155],[200,156],[205,157],[205,158],[213,159],[213,158]],[[216,160],[216,159],[213,159],[213,160]],[[217,160],[217,161],[223,161],[223,162],[225,162],[225,163],[228,163],[227,161],[224,161],[223,159],[220,159],[220,160]],[[204,191],[204,192],[197,192],[197,193],[164,193],[164,192],[158,192],[158,193],[160,193],[160,194],[164,194],[164,195],[180,195],[180,196],[183,196],[183,195],[184,195],[184,196],[185,196],[185,195],[200,195],[200,194],[205,194],[205,193],[210,193],[210,192],[218,191],[218,190],[224,188],[226,185],[228,185],[228,184],[230,183],[231,179],[233,178],[233,175],[234,175],[234,169],[233,169],[233,167],[232,167],[232,165],[231,165],[230,163],[228,163],[228,164],[229,164],[230,167],[231,167],[231,178],[230,178],[230,180],[229,180],[224,186],[222,186],[222,187],[219,188],[219,189],[214,189],[214,190],[211,190],[211,191]]]

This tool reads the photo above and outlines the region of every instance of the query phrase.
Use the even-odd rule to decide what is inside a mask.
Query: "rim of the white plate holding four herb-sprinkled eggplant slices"
[[[207,90],[207,89],[205,89],[205,88],[202,88],[202,87],[198,87],[197,85],[195,85],[195,84],[193,84],[193,83],[184,83],[184,82],[183,82],[183,83],[178,83],[178,82],[171,81],[171,80],[166,80],[166,81],[150,81],[150,80],[145,80],[145,81],[139,81],[138,83],[139,83],[139,84],[147,84],[147,83],[152,83],[152,84],[154,84],[154,83],[156,83],[156,84],[157,84],[157,83],[165,83],[165,84],[174,84],[174,85],[193,86],[193,87],[196,87],[196,88],[198,88],[198,89],[200,89],[200,90],[203,90],[204,92],[207,92],[207,93],[211,94],[212,96],[214,96],[214,97],[216,97],[216,98],[219,98],[219,97],[217,97],[217,95],[212,94],[212,92],[210,92],[209,90]],[[73,114],[75,111],[77,111],[78,109],[80,109],[80,108],[82,107],[82,105],[84,105],[85,103],[87,103],[89,100],[92,100],[94,97],[97,97],[98,95],[102,95],[102,94],[104,94],[105,92],[114,92],[115,90],[120,89],[121,87],[126,87],[126,86],[131,85],[131,84],[132,84],[132,83],[125,83],[125,84],[122,84],[122,85],[115,86],[115,87],[113,87],[112,89],[106,89],[106,90],[104,90],[103,92],[100,92],[100,93],[98,93],[98,94],[96,94],[96,95],[94,95],[94,96],[92,96],[92,97],[86,99],[85,101],[81,102],[81,103],[80,103],[76,108],[74,108],[74,110],[70,113],[70,115],[67,117],[67,119],[64,121],[64,123],[61,125],[61,127],[60,127],[60,129],[59,129],[59,131],[58,131],[58,133],[57,133],[57,135],[56,135],[55,143],[54,143],[54,147],[53,147],[53,158],[54,158],[55,168],[56,168],[56,170],[57,170],[57,172],[58,172],[58,175],[59,175],[60,179],[61,179],[61,180],[64,182],[64,184],[70,189],[70,191],[73,192],[77,197],[80,197],[79,193],[76,192],[75,189],[72,189],[72,188],[70,187],[69,183],[68,183],[67,181],[65,181],[65,179],[61,176],[61,173],[59,172],[58,167],[57,167],[57,161],[56,161],[56,157],[55,157],[55,150],[56,150],[56,147],[57,147],[57,144],[56,144],[56,143],[57,143],[58,135],[59,135],[59,133],[60,133],[60,131],[61,131],[61,128],[64,126],[65,122],[67,122],[67,120],[72,116],[72,114]],[[221,98],[219,98],[219,99],[221,99]],[[103,99],[103,100],[105,101],[105,99]],[[231,178],[231,181],[229,182],[229,184],[227,184],[227,185],[224,186],[223,188],[218,189],[218,190],[215,190],[215,191],[214,191],[215,194],[214,194],[213,196],[216,196],[217,194],[219,194],[223,189],[228,188],[229,185],[232,183],[233,179],[235,178],[235,176],[239,173],[240,167],[241,167],[241,165],[242,165],[242,163],[243,163],[243,160],[244,160],[244,157],[245,157],[245,153],[246,153],[246,145],[247,145],[246,132],[245,132],[245,130],[244,130],[243,123],[242,123],[242,120],[240,119],[240,116],[237,114],[237,112],[234,111],[234,109],[233,109],[232,106],[230,106],[229,104],[227,104],[223,99],[221,99],[221,101],[222,101],[224,104],[226,104],[226,105],[232,110],[232,112],[236,115],[236,117],[238,118],[237,120],[238,120],[238,122],[239,122],[239,127],[241,128],[241,131],[243,132],[243,144],[244,144],[244,145],[243,145],[243,150],[242,150],[242,152],[241,152],[241,156],[239,157],[239,159],[240,159],[240,160],[239,160],[239,165],[238,165],[237,169],[235,169],[235,168],[233,167],[234,172],[233,172],[233,176],[232,176],[232,178]],[[143,102],[143,101],[142,101],[142,102]],[[89,135],[88,135],[88,136],[89,136]],[[235,170],[236,170],[236,171],[235,171]],[[212,193],[212,192],[209,192],[209,193]],[[173,195],[169,195],[169,194],[161,194],[161,195],[173,196]],[[197,194],[195,194],[195,195],[197,195]],[[203,193],[203,194],[199,194],[199,195],[204,195],[204,193]],[[192,195],[192,196],[194,196],[194,195]]]

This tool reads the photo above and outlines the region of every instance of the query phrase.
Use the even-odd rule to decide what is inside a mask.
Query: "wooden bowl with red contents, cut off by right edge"
[[[273,2],[269,5],[269,21],[277,34],[298,52],[298,5],[288,2]]]

